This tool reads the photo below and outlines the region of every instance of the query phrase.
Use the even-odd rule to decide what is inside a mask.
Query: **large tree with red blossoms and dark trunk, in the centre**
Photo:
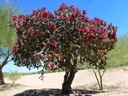
[[[106,54],[116,43],[117,27],[99,18],[90,20],[86,10],[73,5],[62,4],[54,15],[42,8],[29,15],[13,16],[13,20],[18,37],[12,49],[15,64],[28,68],[64,67],[62,94],[72,92],[78,59],[103,69]]]

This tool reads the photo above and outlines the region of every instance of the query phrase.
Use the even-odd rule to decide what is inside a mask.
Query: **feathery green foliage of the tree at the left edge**
[[[11,47],[16,40],[14,29],[9,27],[12,23],[12,16],[17,13],[17,8],[11,5],[7,0],[1,0],[0,4],[0,52],[7,53],[7,50],[11,51]],[[2,54],[0,54],[2,55]]]

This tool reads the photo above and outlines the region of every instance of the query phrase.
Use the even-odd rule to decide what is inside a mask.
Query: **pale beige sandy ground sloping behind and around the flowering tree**
[[[48,92],[57,94],[57,91],[61,91],[63,76],[63,72],[47,73],[44,74],[43,81],[39,79],[40,74],[22,76],[15,85],[6,84],[0,87],[0,96],[56,96],[48,95]],[[10,83],[7,79],[5,82]],[[104,90],[101,92],[98,90],[92,70],[78,71],[72,88],[73,92],[79,95],[71,96],[128,96],[128,67],[107,70],[103,77],[103,84]],[[37,95],[32,95],[32,92]],[[18,95],[19,93],[22,95]],[[39,93],[42,95],[38,95]]]

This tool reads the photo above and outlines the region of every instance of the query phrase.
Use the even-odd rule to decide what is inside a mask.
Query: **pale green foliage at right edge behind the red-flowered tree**
[[[128,35],[118,37],[115,48],[108,53],[107,67],[120,67],[128,65]]]

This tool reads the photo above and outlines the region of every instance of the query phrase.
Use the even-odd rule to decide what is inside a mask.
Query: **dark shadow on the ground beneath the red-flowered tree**
[[[42,89],[42,90],[33,89],[15,94],[14,96],[92,96],[97,93],[100,93],[100,91],[74,89],[72,94],[62,95],[61,89]]]

